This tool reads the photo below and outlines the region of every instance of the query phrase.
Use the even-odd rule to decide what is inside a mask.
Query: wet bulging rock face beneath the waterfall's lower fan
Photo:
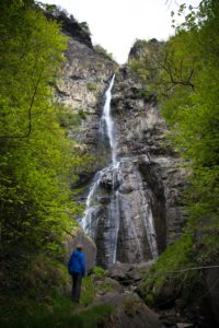
[[[99,195],[104,195],[104,202],[99,202]],[[132,263],[157,257],[165,246],[155,241],[153,212],[159,209],[135,159],[123,159],[116,168],[110,167],[96,196],[89,231],[97,246],[97,263],[107,267],[116,260]],[[162,215],[157,215],[157,225],[163,225]]]

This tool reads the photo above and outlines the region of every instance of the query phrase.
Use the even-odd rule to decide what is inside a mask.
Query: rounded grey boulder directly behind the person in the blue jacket
[[[69,258],[78,244],[82,244],[85,255],[87,273],[89,273],[96,263],[96,246],[94,242],[84,234],[82,229],[78,229],[73,234],[74,235],[70,235],[66,241],[67,258]]]

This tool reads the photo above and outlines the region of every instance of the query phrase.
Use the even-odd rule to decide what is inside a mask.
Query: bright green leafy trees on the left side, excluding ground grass
[[[37,254],[61,255],[76,224],[69,185],[81,160],[60,127],[50,86],[67,38],[32,1],[1,1],[0,10],[1,267],[9,282]]]

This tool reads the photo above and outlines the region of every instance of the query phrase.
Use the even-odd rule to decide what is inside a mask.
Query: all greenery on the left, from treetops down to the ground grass
[[[62,21],[79,23],[32,0],[1,1],[0,11],[0,326],[97,327],[112,306],[73,313],[65,265],[66,239],[82,211],[70,186],[91,159],[67,132],[82,114],[70,115],[54,94],[68,45]],[[81,306],[95,293],[87,277]]]

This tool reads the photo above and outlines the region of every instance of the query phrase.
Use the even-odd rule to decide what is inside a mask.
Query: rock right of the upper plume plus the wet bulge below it
[[[112,99],[117,162],[101,173],[87,226],[103,267],[155,258],[181,235],[186,219],[185,172],[163,142],[166,127],[158,106],[139,98],[140,90],[128,69],[117,73]]]

